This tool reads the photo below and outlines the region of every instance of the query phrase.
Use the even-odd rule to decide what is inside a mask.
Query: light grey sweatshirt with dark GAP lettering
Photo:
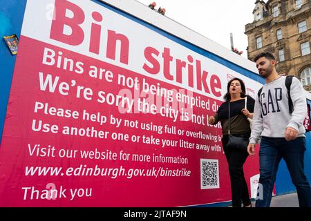
[[[261,136],[285,137],[285,129],[290,126],[298,131],[298,137],[304,137],[303,120],[307,116],[305,90],[299,79],[293,77],[290,97],[294,105],[292,114],[288,108],[288,89],[285,78],[279,77],[265,84],[261,96],[256,95],[252,134],[249,143],[256,144]],[[259,102],[259,99],[261,102]]]

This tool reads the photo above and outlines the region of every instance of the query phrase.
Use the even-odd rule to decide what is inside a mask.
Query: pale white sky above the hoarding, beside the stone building
[[[137,0],[149,6],[152,0]],[[254,21],[252,14],[256,0],[156,0],[156,9],[165,8],[165,16],[178,21],[216,43],[243,51],[247,58],[247,35],[245,25]]]

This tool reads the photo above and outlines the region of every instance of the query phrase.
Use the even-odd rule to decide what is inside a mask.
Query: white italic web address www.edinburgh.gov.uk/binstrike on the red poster
[[[61,176],[103,176],[111,177],[115,179],[117,177],[125,176],[128,179],[132,177],[146,176],[146,177],[189,177],[191,171],[182,169],[169,169],[162,166],[151,169],[124,169],[123,166],[116,168],[101,168],[97,165],[94,167],[88,167],[86,164],[80,164],[77,167],[68,167],[63,169],[62,167],[55,166],[26,166],[26,176],[50,176],[50,175],[61,175]]]

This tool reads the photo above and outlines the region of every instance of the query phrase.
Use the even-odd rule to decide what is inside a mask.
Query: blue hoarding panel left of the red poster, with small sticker
[[[0,142],[17,56],[11,55],[3,36],[12,34],[20,36],[25,7],[26,0],[1,1],[0,4]]]

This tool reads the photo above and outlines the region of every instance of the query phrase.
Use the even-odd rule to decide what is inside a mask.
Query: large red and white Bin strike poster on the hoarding
[[[220,124],[207,119],[231,77],[253,97],[260,84],[163,33],[104,3],[27,1],[0,148],[0,206],[231,200]],[[249,188],[257,174],[248,157]]]

